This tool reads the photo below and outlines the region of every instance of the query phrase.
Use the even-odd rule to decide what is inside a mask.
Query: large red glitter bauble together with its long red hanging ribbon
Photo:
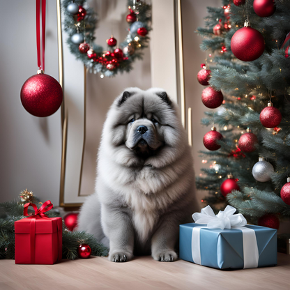
[[[40,38],[40,2],[42,6],[42,41]],[[24,109],[33,116],[46,117],[54,114],[63,101],[61,85],[50,75],[45,75],[45,1],[36,1],[36,47],[37,75],[29,77],[24,82],[20,98]],[[40,50],[42,42],[42,50]]]

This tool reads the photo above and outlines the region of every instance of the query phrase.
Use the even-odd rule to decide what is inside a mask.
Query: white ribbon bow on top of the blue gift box
[[[192,218],[197,224],[207,224],[208,229],[231,229],[231,227],[243,227],[247,224],[247,220],[241,214],[236,213],[236,208],[227,206],[224,211],[220,211],[215,215],[211,206],[201,209],[200,213],[194,213]]]

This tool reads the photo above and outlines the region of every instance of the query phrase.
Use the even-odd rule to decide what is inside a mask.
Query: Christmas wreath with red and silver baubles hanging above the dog
[[[112,77],[129,72],[135,59],[142,59],[142,49],[148,46],[148,31],[151,30],[151,6],[141,0],[129,0],[130,13],[126,21],[130,24],[128,35],[117,46],[117,40],[107,39],[107,50],[93,43],[97,14],[89,8],[86,0],[63,0],[64,29],[68,32],[68,47],[76,58],[92,73],[100,77]]]

